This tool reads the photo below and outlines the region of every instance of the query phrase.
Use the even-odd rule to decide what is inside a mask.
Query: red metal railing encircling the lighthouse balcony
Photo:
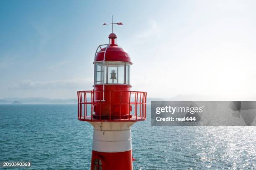
[[[103,92],[94,90],[77,92],[78,120],[106,122],[146,120],[147,92],[108,91],[105,95]],[[113,107],[117,105],[118,115],[114,115]]]

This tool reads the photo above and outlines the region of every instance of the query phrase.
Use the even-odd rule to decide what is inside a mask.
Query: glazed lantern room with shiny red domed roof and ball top
[[[108,38],[110,44],[100,45],[95,53],[94,85],[130,85],[131,59],[128,53],[116,44],[115,33],[111,33]]]

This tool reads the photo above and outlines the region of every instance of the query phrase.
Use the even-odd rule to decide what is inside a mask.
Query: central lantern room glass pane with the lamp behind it
[[[108,62],[108,83],[124,83],[124,62]]]

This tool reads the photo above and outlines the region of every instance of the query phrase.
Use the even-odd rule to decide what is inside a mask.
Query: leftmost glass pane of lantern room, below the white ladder
[[[106,83],[107,80],[107,62],[95,63],[95,84]]]

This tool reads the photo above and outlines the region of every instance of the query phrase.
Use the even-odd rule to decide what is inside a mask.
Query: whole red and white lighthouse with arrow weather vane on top
[[[132,170],[131,127],[146,120],[146,92],[131,91],[131,58],[117,35],[99,45],[94,57],[93,90],[78,91],[78,120],[93,126],[91,170]],[[108,24],[103,24],[108,25]]]

